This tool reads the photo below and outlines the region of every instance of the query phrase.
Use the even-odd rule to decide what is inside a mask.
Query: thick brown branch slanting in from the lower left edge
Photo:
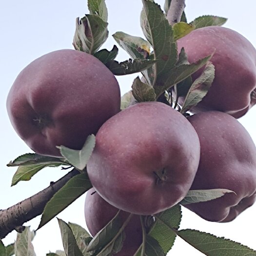
[[[73,169],[65,176],[61,177],[56,182],[51,182],[50,186],[5,210],[0,210],[0,239],[3,239],[13,230],[22,232],[22,225],[42,214],[46,203],[53,195],[62,188],[67,181],[80,174],[76,169]]]

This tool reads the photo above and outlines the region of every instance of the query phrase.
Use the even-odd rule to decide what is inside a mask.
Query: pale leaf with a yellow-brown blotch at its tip
[[[147,59],[150,54],[150,43],[140,37],[123,32],[116,32],[113,38],[131,56],[132,59]]]

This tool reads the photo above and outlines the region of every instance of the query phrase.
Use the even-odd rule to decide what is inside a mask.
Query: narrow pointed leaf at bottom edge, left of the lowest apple
[[[65,254],[67,256],[83,256],[69,225],[59,218],[58,222]]]

